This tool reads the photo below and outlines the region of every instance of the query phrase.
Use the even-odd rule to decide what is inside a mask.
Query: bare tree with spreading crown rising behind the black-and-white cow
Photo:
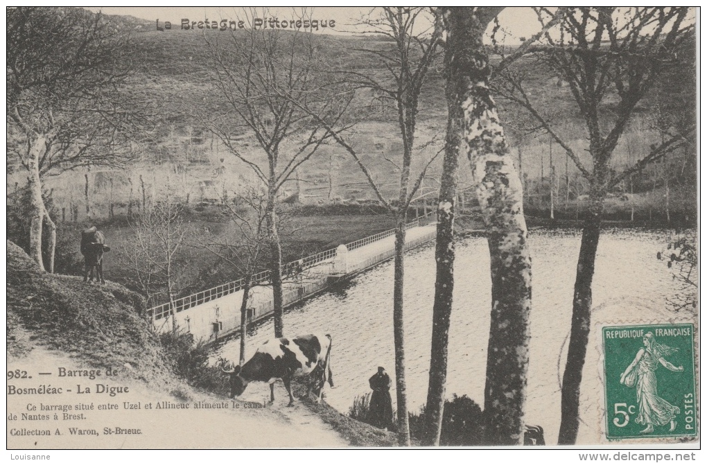
[[[255,11],[250,11],[248,19],[252,21],[255,16]],[[226,149],[250,168],[267,192],[275,336],[281,337],[283,291],[278,198],[297,168],[330,138],[331,132],[322,128],[319,119],[335,124],[346,105],[320,98],[314,91],[321,85],[315,79],[315,69],[322,60],[312,34],[247,28],[216,37],[206,39],[214,62],[214,84],[228,109],[222,117],[206,124]],[[301,110],[303,104],[313,108],[317,117]],[[255,139],[257,152],[244,149],[244,133]]]

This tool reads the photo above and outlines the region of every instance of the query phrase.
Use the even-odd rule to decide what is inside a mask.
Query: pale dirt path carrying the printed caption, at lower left
[[[281,385],[276,385],[276,399],[279,400],[267,407],[262,406],[262,401],[249,404],[197,392],[190,392],[192,397],[184,401],[165,392],[156,392],[139,380],[121,380],[120,376],[107,380],[105,369],[102,376],[90,380],[90,377],[59,377],[59,367],[81,369],[68,356],[43,348],[35,348],[25,358],[8,358],[8,371],[27,370],[32,377],[9,381],[8,385],[23,389],[40,385],[62,388],[61,394],[8,394],[8,414],[18,417],[16,421],[8,421],[8,449],[348,445],[302,404],[286,407],[287,397]],[[100,392],[106,387],[127,387],[128,390],[111,397],[110,392]],[[85,392],[88,389],[90,393]],[[257,394],[259,389],[253,389]],[[83,393],[79,394],[78,390]],[[218,404],[226,408],[194,408],[201,404]],[[47,410],[47,406],[63,406],[64,410]],[[86,409],[91,406],[93,409]],[[99,406],[110,406],[112,409],[99,410]],[[130,406],[139,408],[127,408]],[[172,406],[188,408],[175,409]],[[119,433],[126,429],[135,433]],[[79,430],[89,430],[89,433],[79,435]],[[36,435],[37,431],[48,432],[49,435]],[[23,435],[28,433],[32,434]]]

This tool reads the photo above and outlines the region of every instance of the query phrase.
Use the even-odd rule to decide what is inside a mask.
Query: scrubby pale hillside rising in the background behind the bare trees
[[[223,192],[231,192],[232,197],[238,185],[252,182],[250,168],[237,160],[218,137],[204,127],[205,119],[229,117],[229,130],[240,141],[238,149],[262,164],[262,152],[257,141],[250,136],[247,127],[228,112],[228,95],[217,88],[214,80],[216,64],[211,47],[233,47],[230,33],[204,31],[202,34],[193,30],[158,32],[134,18],[113,19],[122,21],[134,30],[129,54],[133,72],[125,90],[136,100],[136,105],[149,108],[151,121],[136,146],[136,154],[139,156],[134,163],[126,165],[124,170],[94,169],[88,172],[90,201],[98,206],[96,209],[100,209],[96,211],[98,216],[107,216],[109,195],[110,202],[115,203],[115,211],[125,213],[126,204],[140,197],[141,182],[145,184],[148,198],[160,197],[166,186],[172,185],[179,197],[190,201],[216,200],[223,196]],[[242,33],[237,31],[235,40]],[[375,54],[362,52],[361,48],[378,50],[389,47],[390,42],[376,40],[376,37],[316,33],[310,38],[317,62],[325,69],[355,69],[385,81],[385,66],[376,59]],[[659,132],[653,127],[658,120],[657,112],[665,118],[665,115],[684,112],[686,107],[694,105],[694,49],[691,44],[686,44],[684,56],[679,57],[679,60],[684,65],[667,66],[655,91],[638,105],[635,117],[617,146],[614,155],[616,168],[634,163],[650,149],[652,143],[660,140]],[[491,61],[498,61],[498,57],[491,57]],[[418,145],[435,137],[443,139],[447,109],[442,69],[440,56],[428,73],[420,98],[416,134]],[[553,122],[555,131],[589,165],[585,153],[587,142],[584,120],[566,83],[538,57],[524,57],[513,64],[511,69],[522,77],[527,94],[537,106],[538,112]],[[675,82],[684,85],[674,86]],[[607,98],[598,108],[602,120],[612,120],[617,111],[614,93],[615,90],[609,88]],[[527,174],[525,189],[528,198],[542,203],[540,209],[548,209],[545,203],[549,199],[547,190],[551,165],[556,170],[559,197],[566,197],[567,202],[575,202],[576,197],[586,194],[585,182],[579,178],[573,163],[567,163],[561,148],[551,143],[544,131],[537,130],[537,124],[527,112],[508,100],[500,97],[497,100],[510,150],[518,157],[519,164],[522,164],[522,173]],[[395,109],[380,107],[380,100],[375,95],[368,93],[368,90],[359,90],[350,117],[358,121],[350,134],[354,146],[380,182],[383,193],[395,197],[399,182],[395,157],[402,150]],[[282,151],[286,153],[291,148],[284,146]],[[441,145],[438,142],[419,153],[419,164],[439,148]],[[680,166],[684,163],[693,164],[693,161],[683,160],[683,157],[688,156],[676,153],[674,162],[671,162],[674,165],[670,168],[673,171],[670,175],[665,175],[662,167],[641,172],[637,176],[639,178],[634,178],[633,192],[647,192],[655,189],[655,184],[658,187],[665,183],[671,186],[692,184],[693,178],[683,175],[685,169]],[[419,165],[414,167],[419,168]],[[469,165],[460,163],[460,168],[460,187],[468,188],[471,182]],[[431,177],[438,177],[439,172],[440,163],[433,163],[430,168]],[[47,189],[54,190],[54,199],[66,210],[81,204],[85,173],[76,170],[47,179]],[[354,160],[336,144],[321,146],[312,159],[300,168],[299,173],[299,180],[288,182],[284,189],[287,194],[295,189],[300,191],[300,199],[305,204],[376,199],[373,189]],[[139,175],[143,175],[143,178],[139,179]],[[663,177],[670,178],[665,180]],[[12,184],[17,180],[20,179],[11,178],[8,182]],[[22,181],[19,183],[22,184]],[[423,187],[426,192],[432,192],[435,185],[430,179]],[[570,207],[573,205],[570,204]],[[538,205],[533,206],[537,209]]]

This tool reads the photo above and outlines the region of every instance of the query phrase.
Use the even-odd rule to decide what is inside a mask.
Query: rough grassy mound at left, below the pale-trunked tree
[[[117,283],[93,286],[78,276],[50,275],[7,242],[8,354],[34,345],[63,351],[94,368],[131,365],[136,378],[177,387],[160,345],[141,319],[144,300]]]

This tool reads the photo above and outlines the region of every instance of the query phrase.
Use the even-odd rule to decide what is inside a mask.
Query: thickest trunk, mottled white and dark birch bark
[[[488,86],[482,38],[498,8],[450,8],[447,46],[464,112],[463,139],[472,165],[491,254],[491,328],[486,360],[484,423],[489,445],[521,445],[527,397],[530,250],[522,186]]]

